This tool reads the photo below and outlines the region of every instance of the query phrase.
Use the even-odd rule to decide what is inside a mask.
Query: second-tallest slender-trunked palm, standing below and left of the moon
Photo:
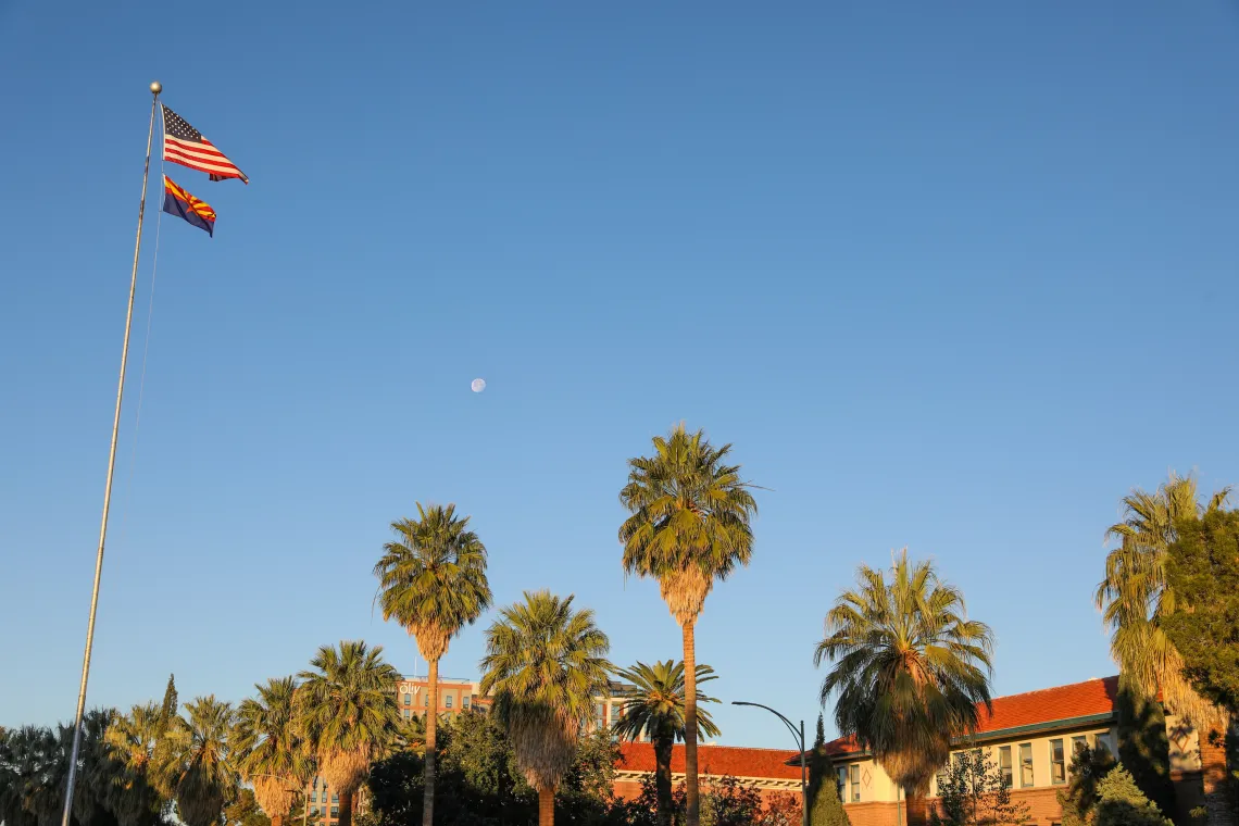
[[[439,660],[452,637],[491,606],[491,586],[486,581],[486,546],[468,530],[468,516],[457,516],[456,505],[422,508],[420,502],[418,516],[392,523],[396,540],[383,546],[374,573],[379,577],[383,619],[400,623],[430,666],[421,824],[431,826]]]

